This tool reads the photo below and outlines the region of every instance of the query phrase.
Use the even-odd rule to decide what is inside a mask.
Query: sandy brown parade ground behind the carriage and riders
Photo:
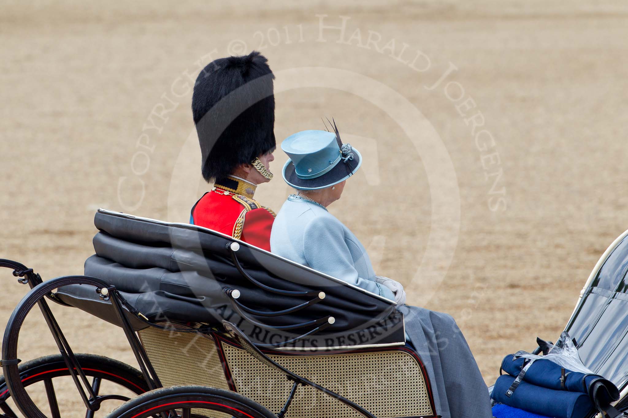
[[[187,222],[209,188],[190,78],[259,50],[278,142],[335,119],[365,161],[330,211],[409,304],[457,319],[487,384],[558,337],[628,228],[624,2],[223,3],[0,6],[0,258],[82,274],[99,207]],[[256,199],[278,211],[275,157]],[[0,280],[4,329],[27,288]],[[119,328],[53,310],[76,352],[136,365]],[[57,352],[36,311],[19,349]]]

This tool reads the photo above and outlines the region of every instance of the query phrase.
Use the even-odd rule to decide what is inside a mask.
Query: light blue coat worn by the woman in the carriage
[[[355,235],[325,207],[291,195],[271,231],[271,252],[394,300],[375,281],[371,259]]]

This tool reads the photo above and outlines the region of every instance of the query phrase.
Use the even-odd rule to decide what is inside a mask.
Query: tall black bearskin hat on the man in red
[[[274,149],[273,79],[257,51],[214,60],[198,75],[192,114],[207,182]]]

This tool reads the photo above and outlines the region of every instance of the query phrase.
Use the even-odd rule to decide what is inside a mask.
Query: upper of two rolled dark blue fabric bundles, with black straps
[[[502,361],[502,370],[511,376],[519,375],[525,358],[517,358],[513,360],[513,355],[509,354]],[[562,370],[560,365],[550,360],[534,360],[534,363],[528,368],[523,377],[524,382],[531,383],[540,387],[556,390],[569,390],[570,392],[582,392],[594,396],[600,405],[608,405],[610,402],[619,399],[619,390],[609,380],[599,375],[585,374],[580,372],[571,372],[565,370],[565,388],[561,385]],[[597,382],[598,389],[593,393],[590,386],[593,382]]]

